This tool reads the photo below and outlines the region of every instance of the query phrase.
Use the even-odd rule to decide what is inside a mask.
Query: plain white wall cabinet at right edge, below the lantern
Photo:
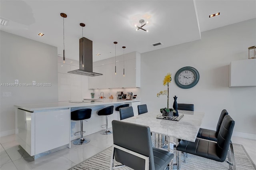
[[[229,65],[229,87],[256,86],[256,59],[232,61]]]

